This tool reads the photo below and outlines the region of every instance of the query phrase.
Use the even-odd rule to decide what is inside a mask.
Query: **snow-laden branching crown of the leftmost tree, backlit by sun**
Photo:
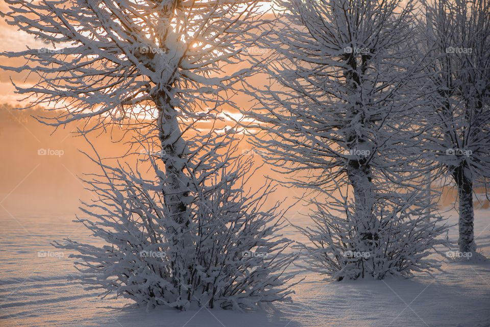
[[[83,130],[124,125],[114,121],[121,117],[145,125],[142,113],[156,118],[157,111],[195,117],[203,102],[226,102],[229,95],[218,91],[251,72],[233,64],[240,62],[244,40],[252,42],[264,24],[257,0],[6,4],[0,16],[9,25],[55,47],[1,54],[3,69],[39,77],[35,85],[15,85],[16,92],[32,101],[30,107],[58,110],[55,118],[39,118],[46,124],[96,122]]]

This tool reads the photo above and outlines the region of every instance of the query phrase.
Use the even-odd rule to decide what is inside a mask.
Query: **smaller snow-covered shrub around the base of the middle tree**
[[[447,226],[426,200],[418,192],[380,197],[373,210],[379,218],[370,224],[356,216],[348,198],[330,196],[326,203],[313,202],[316,210],[310,217],[315,226],[296,226],[311,244],[298,247],[306,250],[309,269],[337,281],[406,278],[414,271],[440,269],[438,261],[428,256],[434,246],[447,245],[438,237]]]

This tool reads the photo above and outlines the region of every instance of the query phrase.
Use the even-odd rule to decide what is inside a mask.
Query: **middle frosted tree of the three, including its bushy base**
[[[327,196],[331,192],[347,187],[348,195],[335,198],[330,213],[320,204],[320,212],[313,214],[319,234],[303,231],[320,250],[371,255],[339,261],[325,273],[337,279],[365,274],[383,278],[397,270],[398,259],[405,267],[398,266],[399,271],[416,269],[415,257],[401,254],[395,259],[389,250],[381,250],[388,243],[397,249],[405,246],[406,240],[398,237],[410,228],[431,230],[425,235],[430,238],[442,231],[433,225],[439,219],[415,223],[424,212],[432,216],[422,210],[432,205],[422,185],[431,164],[421,151],[426,133],[420,92],[424,80],[412,37],[418,32],[412,24],[413,3],[278,4],[283,11],[275,31],[260,40],[273,52],[262,65],[271,83],[263,92],[256,90],[257,105],[247,113],[257,121],[248,127],[261,131],[255,146],[264,149],[265,159],[279,171],[286,169],[291,183],[326,195],[326,202],[332,200]],[[408,213],[403,209],[407,206],[421,210]],[[338,222],[339,215],[344,216],[341,224],[324,219]],[[425,253],[433,245],[408,235],[413,237],[413,253]],[[325,255],[315,254],[314,260],[330,265],[322,263]]]

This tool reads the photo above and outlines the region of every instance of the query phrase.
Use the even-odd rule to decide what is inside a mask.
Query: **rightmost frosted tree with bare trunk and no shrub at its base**
[[[490,3],[437,0],[424,9],[430,149],[458,189],[459,251],[480,260],[473,192],[490,177]]]

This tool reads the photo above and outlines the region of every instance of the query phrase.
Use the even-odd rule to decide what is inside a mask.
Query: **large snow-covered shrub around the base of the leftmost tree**
[[[91,218],[77,221],[106,244],[54,244],[80,253],[71,256],[87,289],[124,296],[147,309],[253,308],[290,300],[291,285],[285,284],[293,275],[283,271],[296,257],[283,254],[291,241],[278,234],[279,204],[262,209],[274,188],[268,183],[257,192],[244,191],[251,158],[232,164],[233,151],[218,155],[225,143],[215,144],[199,157],[205,162],[194,165],[198,191],[189,194],[190,218],[182,223],[171,217],[162,192],[165,174],[151,156],[155,180],[144,179],[138,169],[100,163],[103,173],[88,181],[98,200],[82,208]]]

